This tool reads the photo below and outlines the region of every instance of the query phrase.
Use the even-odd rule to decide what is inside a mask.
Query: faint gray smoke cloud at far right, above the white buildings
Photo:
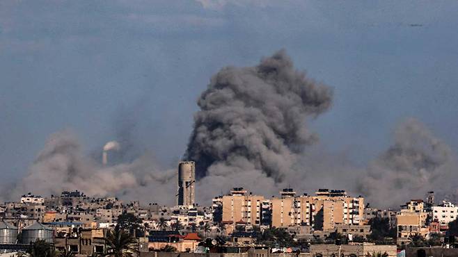
[[[455,193],[455,158],[447,144],[418,120],[407,119],[395,131],[395,142],[368,167],[358,190],[376,206],[399,207],[410,198],[423,199],[429,190]]]

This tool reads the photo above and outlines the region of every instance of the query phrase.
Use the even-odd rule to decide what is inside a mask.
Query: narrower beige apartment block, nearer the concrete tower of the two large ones
[[[230,195],[223,196],[223,222],[261,224],[263,200],[264,197],[248,194],[244,188],[234,188]]]

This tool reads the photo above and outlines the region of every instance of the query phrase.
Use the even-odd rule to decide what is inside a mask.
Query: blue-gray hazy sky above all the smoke
[[[63,128],[88,154],[129,131],[175,165],[210,76],[281,48],[334,88],[312,123],[327,151],[363,165],[405,117],[456,151],[457,13],[454,1],[0,1],[0,174],[22,176]]]

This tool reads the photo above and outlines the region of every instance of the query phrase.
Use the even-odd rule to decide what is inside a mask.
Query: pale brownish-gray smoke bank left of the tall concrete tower
[[[13,189],[10,198],[24,192],[60,194],[63,190],[81,190],[88,195],[117,195],[143,202],[173,204],[175,171],[159,169],[145,154],[132,163],[102,167],[84,156],[71,131],[49,137],[28,174]],[[154,199],[151,192],[156,192]]]

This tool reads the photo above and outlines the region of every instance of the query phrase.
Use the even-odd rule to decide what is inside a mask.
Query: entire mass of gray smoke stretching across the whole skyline
[[[285,51],[255,67],[221,69],[198,99],[200,110],[184,156],[196,161],[198,203],[208,204],[233,186],[265,197],[287,186],[299,193],[345,189],[377,207],[397,207],[409,198],[423,198],[429,190],[438,199],[456,200],[455,155],[416,119],[400,124],[393,144],[368,167],[355,167],[345,154],[306,147],[317,140],[306,121],[328,110],[331,100],[331,88],[294,69]],[[88,195],[175,204],[176,169],[161,169],[148,153],[137,158],[143,147],[132,132],[136,120],[123,116],[116,122],[120,127],[115,138],[121,154],[112,162],[120,164],[102,166],[83,154],[71,132],[55,133],[26,177],[10,190],[10,199],[26,192],[49,195],[77,189]]]

